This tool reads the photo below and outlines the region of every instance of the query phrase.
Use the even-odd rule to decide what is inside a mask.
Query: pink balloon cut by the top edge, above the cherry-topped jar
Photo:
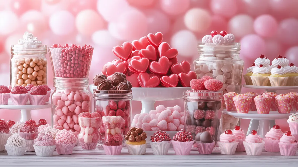
[[[237,12],[236,0],[211,0],[211,10],[214,14],[232,17]]]

